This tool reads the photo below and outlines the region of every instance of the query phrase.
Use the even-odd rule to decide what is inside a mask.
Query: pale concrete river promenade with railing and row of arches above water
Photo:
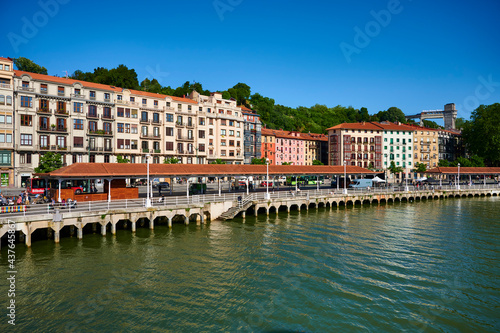
[[[269,198],[267,198],[269,195]],[[498,196],[498,185],[441,186],[375,188],[375,189],[315,189],[303,191],[272,191],[245,193],[224,193],[221,195],[197,195],[165,197],[155,199],[151,207],[145,207],[145,199],[85,202],[76,207],[31,205],[22,211],[4,213],[0,217],[0,237],[15,228],[20,240],[31,246],[31,235],[45,229],[47,236],[56,243],[60,241],[63,228],[69,234],[81,239],[86,232],[97,232],[104,236],[109,230],[116,234],[117,224],[136,232],[137,226],[154,229],[155,223],[181,222],[204,224],[210,220],[228,220],[247,214],[277,214],[279,211],[309,210],[318,208],[339,209],[354,205],[381,205],[447,198]]]

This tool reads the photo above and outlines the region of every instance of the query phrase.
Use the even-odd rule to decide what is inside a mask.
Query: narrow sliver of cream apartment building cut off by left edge
[[[0,57],[0,185],[14,184],[13,60]],[[19,172],[19,170],[17,170]]]

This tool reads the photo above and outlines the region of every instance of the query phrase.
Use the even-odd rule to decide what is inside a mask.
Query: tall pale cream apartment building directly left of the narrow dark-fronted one
[[[198,103],[206,116],[208,162],[220,159],[228,164],[243,164],[245,117],[236,101],[223,99],[219,92],[205,96],[193,91],[189,98]]]

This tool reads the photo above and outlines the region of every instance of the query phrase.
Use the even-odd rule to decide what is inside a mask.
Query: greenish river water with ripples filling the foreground
[[[499,204],[314,209],[17,244],[15,329],[498,332]]]

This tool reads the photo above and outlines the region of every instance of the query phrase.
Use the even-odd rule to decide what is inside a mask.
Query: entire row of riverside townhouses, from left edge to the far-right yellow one
[[[258,114],[221,93],[174,97],[14,70],[0,57],[1,186],[23,186],[40,157],[63,163],[356,165],[412,169],[454,160],[460,133],[388,122],[340,124],[328,136],[261,128]]]

